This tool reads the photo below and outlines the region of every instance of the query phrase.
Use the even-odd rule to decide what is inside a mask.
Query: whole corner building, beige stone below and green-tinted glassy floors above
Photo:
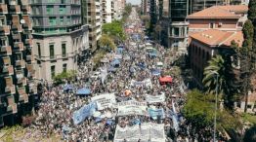
[[[57,74],[76,70],[79,53],[89,48],[80,0],[32,0],[31,8],[37,79],[52,81]]]

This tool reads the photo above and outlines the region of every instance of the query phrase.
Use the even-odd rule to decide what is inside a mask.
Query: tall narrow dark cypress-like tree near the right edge
[[[238,51],[240,59],[240,90],[245,96],[244,112],[247,111],[248,91],[251,89],[252,71],[252,42],[253,42],[253,24],[251,20],[247,20],[242,28],[243,43],[241,49]]]

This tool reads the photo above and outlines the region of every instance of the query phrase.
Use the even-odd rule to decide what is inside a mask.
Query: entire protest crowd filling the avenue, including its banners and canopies
[[[32,129],[74,142],[173,141],[170,133],[189,141],[180,115],[186,86],[181,78],[162,74],[171,68],[165,50],[150,43],[135,10],[126,24],[128,39],[99,69],[88,60],[73,81],[45,83]]]

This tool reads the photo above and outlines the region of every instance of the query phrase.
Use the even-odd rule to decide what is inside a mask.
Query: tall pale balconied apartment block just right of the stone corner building
[[[82,23],[89,25],[89,46],[91,53],[97,49],[102,35],[102,0],[81,0]]]

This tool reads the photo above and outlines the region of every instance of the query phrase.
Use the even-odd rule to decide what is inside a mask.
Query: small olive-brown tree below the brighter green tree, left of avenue
[[[116,49],[112,39],[106,34],[103,34],[100,38],[99,45],[101,49],[105,50],[106,52],[114,51]]]

